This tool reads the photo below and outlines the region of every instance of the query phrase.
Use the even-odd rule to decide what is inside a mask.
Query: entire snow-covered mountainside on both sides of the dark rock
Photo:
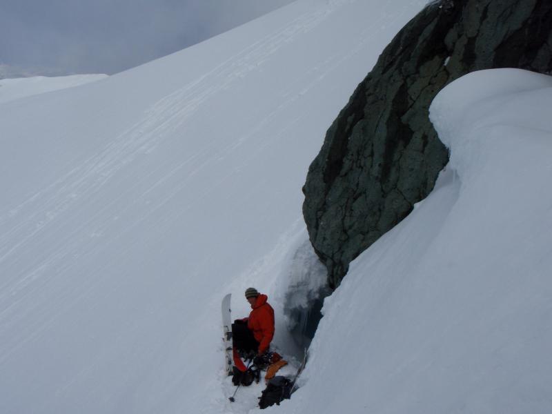
[[[0,103],[0,412],[244,413],[220,302],[284,315],[325,272],[301,204],[326,128],[426,1],[303,0],[127,72]],[[544,413],[549,77],[477,72],[431,117],[451,164],[326,299],[268,412]],[[294,359],[295,357],[295,359]]]

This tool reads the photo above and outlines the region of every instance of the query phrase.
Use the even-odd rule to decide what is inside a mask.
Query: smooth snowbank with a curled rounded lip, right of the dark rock
[[[282,411],[552,412],[549,108],[552,77],[514,69],[437,95],[449,166],[326,299]]]

